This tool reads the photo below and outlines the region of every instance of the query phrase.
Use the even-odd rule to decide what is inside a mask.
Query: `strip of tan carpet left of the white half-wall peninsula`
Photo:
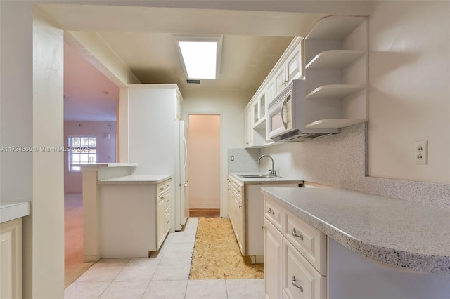
[[[83,262],[82,194],[64,196],[64,288],[78,279],[93,263]]]

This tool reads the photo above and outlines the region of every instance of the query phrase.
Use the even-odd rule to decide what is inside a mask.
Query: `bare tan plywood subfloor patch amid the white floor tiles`
[[[189,279],[262,279],[264,265],[240,254],[229,219],[199,218]]]

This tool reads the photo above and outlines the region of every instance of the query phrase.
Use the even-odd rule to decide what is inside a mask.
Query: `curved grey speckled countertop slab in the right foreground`
[[[444,208],[338,188],[263,188],[262,193],[366,258],[450,273],[450,212]]]

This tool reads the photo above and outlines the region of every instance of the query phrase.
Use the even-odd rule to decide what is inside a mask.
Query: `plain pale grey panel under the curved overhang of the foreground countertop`
[[[374,263],[328,237],[329,298],[449,298],[449,274],[424,274]]]

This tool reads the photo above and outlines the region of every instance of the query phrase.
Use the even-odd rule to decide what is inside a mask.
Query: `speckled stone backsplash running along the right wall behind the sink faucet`
[[[260,154],[274,159],[279,175],[450,208],[450,185],[368,177],[368,126],[342,128],[340,134],[306,142],[282,142],[259,149],[230,149],[229,172],[264,172]],[[235,161],[231,162],[231,155]]]

